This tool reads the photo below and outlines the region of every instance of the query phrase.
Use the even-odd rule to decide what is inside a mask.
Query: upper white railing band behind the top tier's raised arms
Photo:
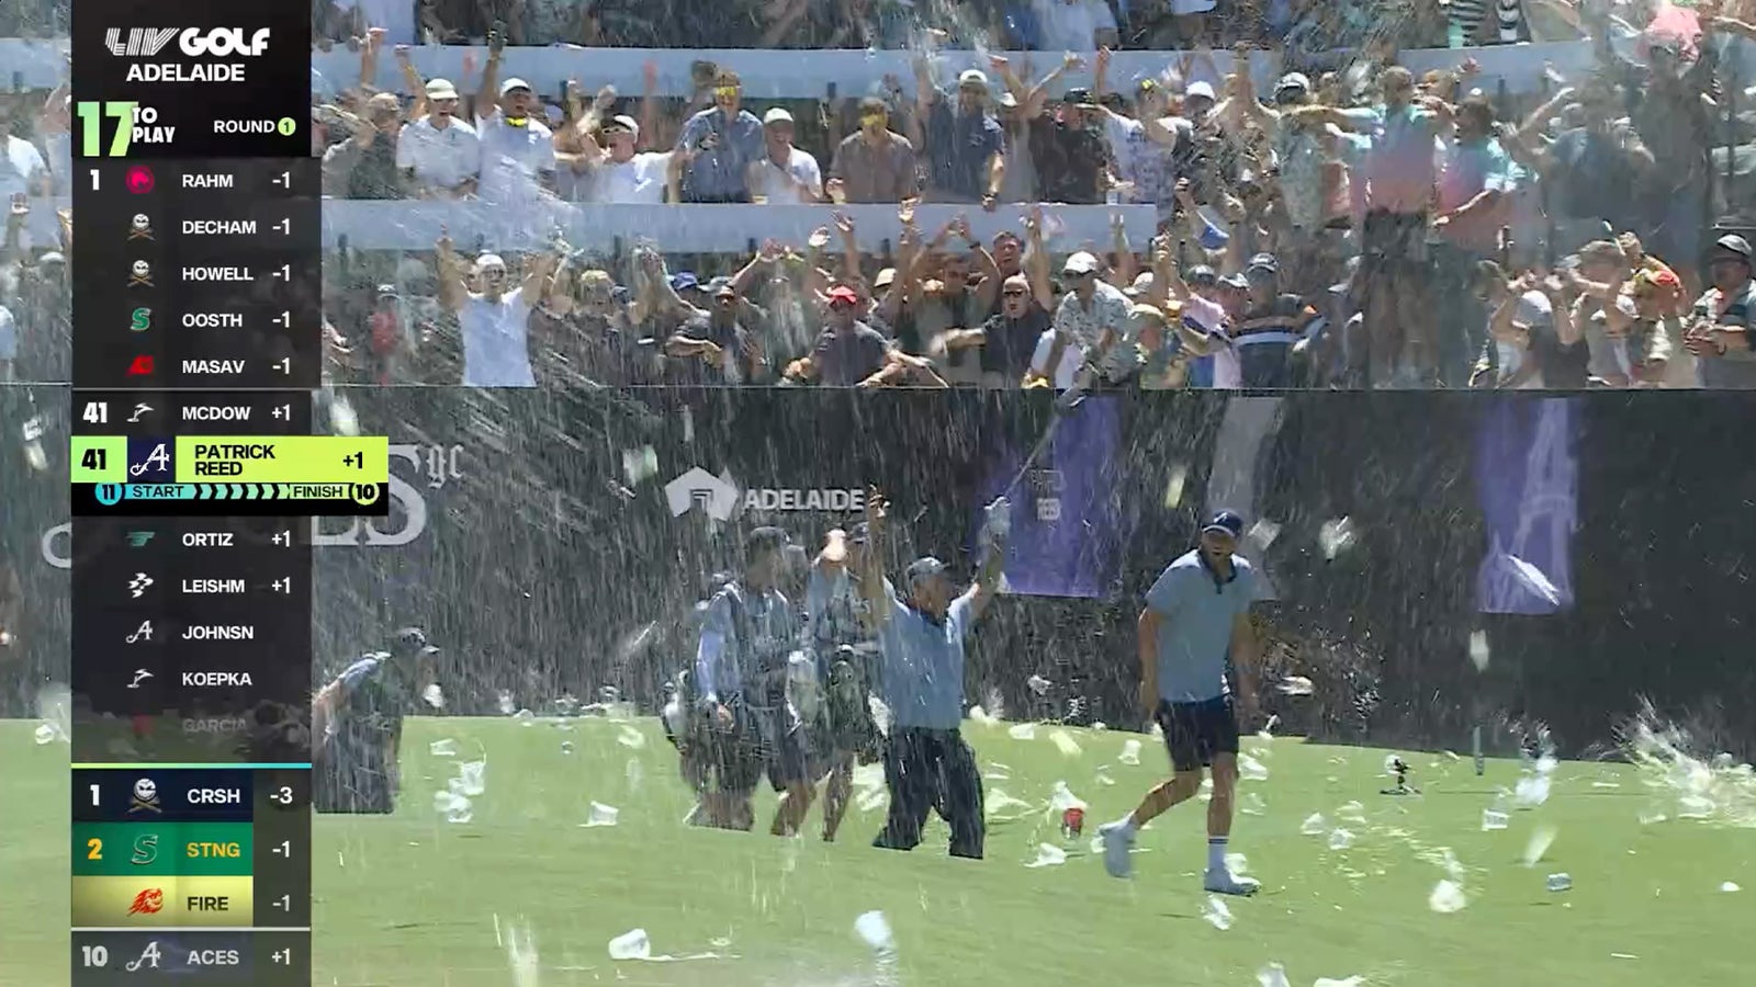
[[[58,86],[65,76],[65,53],[67,40],[0,39],[0,65],[16,72],[28,90]],[[476,72],[464,72],[465,56],[474,56]],[[486,49],[483,47],[420,46],[413,51],[413,63],[423,77],[439,76],[469,90],[479,79],[485,56]],[[1047,72],[1061,60],[1059,53],[1050,51],[1010,53],[1008,56],[1015,65],[1031,61],[1038,74]],[[831,84],[836,86],[838,95],[859,97],[878,86],[885,76],[896,76],[906,90],[913,88],[911,58],[910,51],[509,47],[500,77],[518,76],[546,93],[558,93],[565,79],[579,79],[588,90],[611,84],[623,95],[639,95],[644,84],[644,65],[655,61],[658,95],[678,97],[692,91],[690,63],[708,60],[736,70],[743,77],[745,95],[750,98],[818,98],[827,93]],[[1133,79],[1157,76],[1177,58],[1178,53],[1169,51],[1119,51],[1112,60],[1112,84],[1126,86]],[[1465,58],[1480,63],[1479,84],[1482,88],[1493,91],[1503,81],[1515,93],[1542,90],[1545,63],[1552,63],[1568,77],[1582,76],[1593,65],[1589,40],[1401,53],[1403,65],[1417,72],[1450,68]],[[1229,70],[1229,53],[1213,53],[1213,60],[1222,72]],[[1257,84],[1268,86],[1273,60],[1259,53],[1252,61]],[[313,51],[311,65],[321,76],[321,88],[327,91],[351,86],[360,76],[360,56],[341,46],[330,51]],[[975,51],[945,51],[939,54],[938,65],[939,79],[950,79],[964,68],[989,68],[987,56]],[[1080,79],[1080,76],[1073,76],[1064,84],[1083,84]],[[379,58],[374,83],[385,90],[402,88],[397,61],[388,54]],[[318,84],[316,77],[313,77],[313,84]],[[142,97],[149,91],[148,88]]]

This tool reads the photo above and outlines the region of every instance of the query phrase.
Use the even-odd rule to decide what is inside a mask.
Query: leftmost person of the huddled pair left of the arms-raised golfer
[[[787,664],[799,643],[792,604],[780,592],[787,532],[760,527],[745,539],[743,574],[708,604],[690,680],[702,757],[713,785],[702,797],[708,824],[750,829],[757,780],[785,794],[769,832],[790,836],[811,808],[804,724],[787,699]]]

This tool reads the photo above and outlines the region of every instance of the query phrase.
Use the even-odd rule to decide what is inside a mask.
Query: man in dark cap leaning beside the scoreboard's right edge
[[[414,710],[437,653],[427,634],[407,627],[388,652],[362,657],[318,692],[311,702],[316,811],[395,811],[402,718]]]

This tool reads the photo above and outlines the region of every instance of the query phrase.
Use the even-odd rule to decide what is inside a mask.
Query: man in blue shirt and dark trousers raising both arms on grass
[[[989,508],[983,527],[982,571],[954,597],[945,564],[925,557],[906,573],[908,601],[883,578],[882,534],[885,499],[866,494],[866,569],[860,595],[882,652],[878,694],[890,706],[890,738],[883,776],[890,789],[890,815],[873,847],[913,850],[927,810],[952,827],[952,855],[982,859],[985,838],[982,771],[964,743],[964,638],[999,592],[1006,557],[1010,506],[1001,497]]]

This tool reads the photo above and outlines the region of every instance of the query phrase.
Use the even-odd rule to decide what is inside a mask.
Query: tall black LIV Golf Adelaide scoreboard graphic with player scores
[[[311,983],[311,518],[388,509],[313,437],[311,16],[81,0],[72,983]]]

